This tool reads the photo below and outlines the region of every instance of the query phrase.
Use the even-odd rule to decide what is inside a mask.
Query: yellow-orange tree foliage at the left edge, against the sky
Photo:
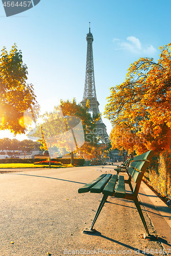
[[[0,130],[26,132],[23,113],[37,103],[32,84],[26,83],[27,66],[16,44],[10,53],[4,47],[0,58]]]

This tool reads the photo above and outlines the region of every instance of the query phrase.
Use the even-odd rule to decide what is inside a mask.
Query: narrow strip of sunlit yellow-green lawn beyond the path
[[[51,165],[51,168],[66,168],[72,167],[71,164],[63,164],[63,165]],[[33,163],[1,163],[1,168],[48,168],[48,165],[42,164],[33,164]]]

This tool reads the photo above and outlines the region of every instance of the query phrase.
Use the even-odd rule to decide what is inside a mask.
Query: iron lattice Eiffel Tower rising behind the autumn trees
[[[92,52],[92,42],[93,36],[90,32],[89,23],[89,33],[86,37],[87,40],[87,61],[86,61],[86,75],[85,75],[85,86],[83,100],[81,104],[85,107],[87,99],[90,101],[90,107],[88,112],[91,114],[99,114],[99,102],[97,101],[95,92],[95,81],[94,81],[94,66],[93,66],[93,52]],[[109,141],[109,136],[106,132],[106,125],[102,122],[102,118],[96,123],[97,134],[101,136],[102,143],[107,143]]]

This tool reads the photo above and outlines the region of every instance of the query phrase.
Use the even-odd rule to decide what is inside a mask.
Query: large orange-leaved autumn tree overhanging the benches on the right
[[[113,148],[137,154],[170,148],[171,43],[159,49],[157,62],[139,58],[128,69],[125,82],[110,88],[105,115],[113,125]]]

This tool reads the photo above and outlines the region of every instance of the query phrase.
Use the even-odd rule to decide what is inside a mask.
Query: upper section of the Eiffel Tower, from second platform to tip
[[[86,75],[85,75],[85,86],[83,101],[87,99],[97,100],[95,92],[95,81],[94,81],[94,66],[93,66],[93,53],[92,53],[92,42],[93,36],[90,32],[90,22],[89,22],[89,33],[86,36],[87,40],[87,60],[86,60]]]

